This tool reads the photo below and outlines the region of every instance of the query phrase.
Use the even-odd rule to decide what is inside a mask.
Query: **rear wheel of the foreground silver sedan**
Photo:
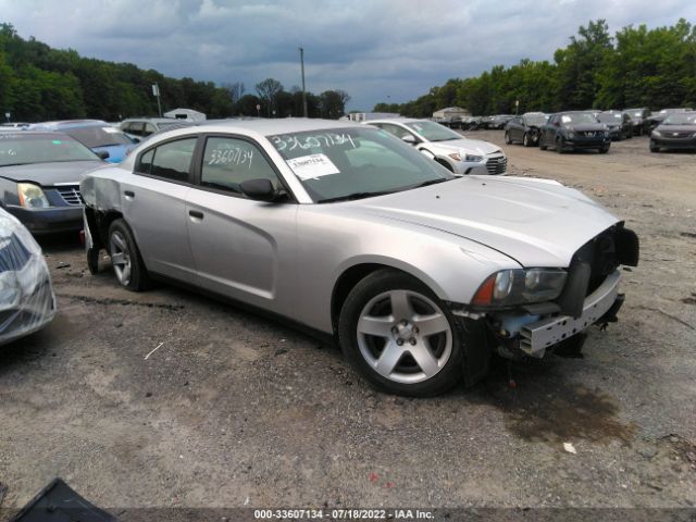
[[[122,219],[114,220],[109,227],[109,254],[111,265],[121,286],[130,291],[142,291],[150,286],[133,232]]]

